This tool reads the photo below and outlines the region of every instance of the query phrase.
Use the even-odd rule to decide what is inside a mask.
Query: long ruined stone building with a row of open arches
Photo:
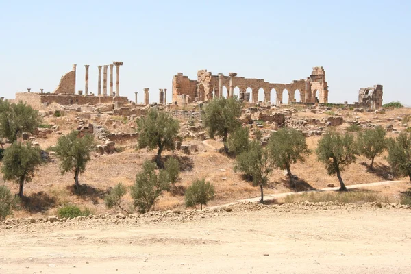
[[[276,95],[276,104],[296,102],[295,92],[300,94],[301,103],[328,103],[328,85],[325,81],[325,71],[322,66],[312,69],[307,79],[295,80],[290,84],[266,82],[264,79],[249,79],[238,77],[237,73],[229,73],[225,76],[212,75],[207,70],[197,73],[197,80],[190,80],[183,73],[173,77],[173,102],[179,105],[195,101],[209,101],[214,97],[223,96],[223,87],[227,89],[227,97],[234,96],[234,89],[238,88],[239,98],[249,101],[250,94],[247,88],[251,88],[253,103],[258,101],[270,102],[271,96]],[[264,90],[264,97],[258,97],[258,90]],[[283,102],[283,91],[288,92],[288,102]],[[273,93],[275,92],[275,93]]]

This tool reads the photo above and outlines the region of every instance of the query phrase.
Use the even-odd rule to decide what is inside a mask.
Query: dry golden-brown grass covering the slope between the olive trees
[[[405,117],[411,115],[409,109],[388,110],[386,114],[371,113],[353,113],[352,111],[333,110],[334,114],[340,114],[345,119],[356,119],[359,121],[373,121],[379,123],[383,127],[388,124],[394,124],[398,130],[405,130],[408,125],[404,125],[397,120],[389,120],[397,116]],[[292,114],[296,117],[313,117],[321,118],[324,114],[314,114],[311,112],[297,112]],[[352,118],[351,118],[352,117]],[[116,117],[114,117],[116,118]],[[378,122],[376,122],[378,121]],[[98,121],[101,125],[105,125],[111,132],[132,132],[134,125],[130,121],[124,119],[111,119],[110,121]],[[51,117],[45,119],[44,123],[53,123],[60,125],[60,131],[63,133],[69,132],[76,127],[75,114],[68,114],[62,117]],[[344,131],[348,127],[344,123],[338,130]],[[393,135],[393,134],[389,134]],[[36,142],[40,144],[42,149],[55,145],[58,135],[51,134],[47,138],[38,138]],[[307,138],[308,147],[312,151],[316,148],[316,143],[321,136],[312,136]],[[177,182],[177,194],[171,195],[166,192],[155,210],[167,210],[173,208],[184,208],[184,190],[190,186],[195,179],[205,178],[214,184],[216,197],[214,201],[209,203],[209,206],[216,206],[223,203],[229,203],[236,199],[245,199],[249,197],[257,197],[260,195],[259,189],[251,186],[250,182],[245,181],[240,173],[235,173],[233,170],[234,159],[228,158],[226,155],[219,153],[222,144],[219,140],[199,141],[187,139],[184,141],[189,144],[196,144],[198,152],[186,155],[181,151],[166,151],[163,158],[169,158],[171,155],[177,158],[180,162],[182,172],[180,173],[179,182]],[[86,172],[80,175],[80,184],[82,193],[75,195],[73,189],[73,174],[66,173],[60,175],[58,169],[58,161],[51,156],[51,160],[40,166],[36,172],[33,182],[25,186],[25,195],[27,199],[24,201],[23,209],[15,212],[14,216],[27,216],[27,214],[55,214],[59,206],[67,204],[75,204],[80,208],[90,208],[93,213],[101,214],[103,212],[117,212],[117,209],[108,210],[104,206],[104,195],[110,191],[115,184],[122,182],[126,186],[134,184],[136,173],[141,170],[142,163],[147,159],[153,159],[155,151],[147,151],[145,149],[137,151],[135,143],[116,145],[121,148],[122,152],[112,155],[92,155],[92,160],[88,163]],[[368,169],[369,160],[364,157],[358,157],[355,164],[351,164],[346,171],[343,172],[343,178],[347,185],[364,184],[370,182],[384,181],[384,173],[390,171],[388,163],[385,160],[385,155],[375,158],[375,170]],[[297,187],[290,189],[288,179],[284,175],[284,171],[277,170],[271,176],[269,187],[265,190],[265,194],[273,194],[280,192],[312,190],[327,187],[327,184],[338,186],[338,179],[327,175],[323,165],[316,161],[315,153],[312,153],[305,164],[292,165],[292,171],[298,176]],[[395,177],[395,179],[406,179],[403,177]],[[17,186],[12,182],[3,182],[0,178],[0,184],[5,184],[13,192],[17,192]],[[399,201],[401,192],[405,192],[410,188],[409,184],[397,184],[390,188],[373,188],[371,192],[361,192],[364,199],[383,199],[383,201]],[[371,193],[371,194],[370,194]],[[327,194],[327,199],[335,200],[342,199],[342,196],[336,193]],[[334,195],[334,196],[333,196]],[[358,192],[349,192],[349,195],[359,195]],[[312,200],[325,199],[321,195],[297,196],[290,199]],[[126,207],[132,205],[132,199],[126,195]]]

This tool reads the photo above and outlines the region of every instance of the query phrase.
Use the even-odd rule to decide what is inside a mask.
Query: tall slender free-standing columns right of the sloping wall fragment
[[[116,66],[116,96],[120,96],[120,66],[123,65],[123,62],[113,62],[113,64],[107,65],[105,64],[104,66],[97,66],[99,69],[99,79],[98,79],[98,84],[97,84],[97,95],[98,96],[107,96],[107,70],[108,67],[110,67],[110,96],[114,96],[114,91],[113,91],[113,70],[114,66]],[[88,95],[88,69],[90,65],[86,64],[84,65],[86,67],[86,76],[85,76],[85,94]],[[101,69],[103,68],[103,92],[101,92]]]

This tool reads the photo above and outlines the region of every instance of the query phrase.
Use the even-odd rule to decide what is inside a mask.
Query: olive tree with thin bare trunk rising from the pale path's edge
[[[262,147],[259,141],[251,141],[249,149],[236,158],[234,171],[242,171],[253,178],[253,185],[260,186],[260,203],[264,203],[263,188],[268,184],[269,175],[274,168],[275,160],[271,149]]]

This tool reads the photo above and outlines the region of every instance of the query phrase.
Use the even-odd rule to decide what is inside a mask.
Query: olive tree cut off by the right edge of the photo
[[[388,163],[399,175],[406,175],[411,181],[411,135],[401,133],[388,139]]]

